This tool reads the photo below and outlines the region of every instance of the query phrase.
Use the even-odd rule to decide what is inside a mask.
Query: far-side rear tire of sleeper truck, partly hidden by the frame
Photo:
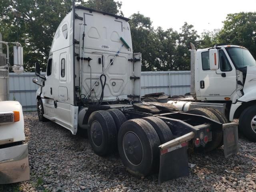
[[[211,112],[210,110],[206,108],[196,108],[196,109],[191,109],[188,110],[186,113],[189,114],[195,114],[195,115],[202,115],[206,116],[212,120],[218,121],[218,117]],[[222,137],[223,137],[223,132],[222,131],[212,131],[212,140],[209,141],[204,148],[202,148],[203,152],[210,152],[216,148],[218,148],[222,144]]]

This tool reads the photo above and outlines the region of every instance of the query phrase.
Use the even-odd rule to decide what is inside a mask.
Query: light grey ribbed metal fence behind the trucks
[[[36,110],[36,90],[32,82],[34,72],[10,73],[9,100],[17,100],[24,111]],[[149,93],[164,92],[168,95],[181,95],[190,92],[190,71],[149,71],[141,72],[141,96]]]

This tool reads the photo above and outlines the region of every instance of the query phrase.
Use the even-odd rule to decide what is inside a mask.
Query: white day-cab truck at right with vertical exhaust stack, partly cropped
[[[198,50],[193,44],[191,47],[191,96],[163,100],[164,96],[150,94],[144,101],[168,101],[183,112],[216,108],[230,122],[239,119],[241,132],[255,142],[256,61],[249,50],[235,45]]]

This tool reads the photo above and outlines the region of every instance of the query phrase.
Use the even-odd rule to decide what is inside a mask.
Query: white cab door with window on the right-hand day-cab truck
[[[200,100],[224,100],[236,91],[236,70],[226,50],[218,50],[218,70],[210,70],[209,51],[201,52],[199,58]]]

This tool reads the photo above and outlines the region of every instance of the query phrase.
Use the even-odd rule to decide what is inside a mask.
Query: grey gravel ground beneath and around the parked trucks
[[[94,154],[88,139],[72,135],[53,122],[39,122],[24,112],[30,180],[0,185],[2,192],[89,191],[256,191],[256,143],[240,136],[240,152],[229,159],[223,149],[192,154],[190,176],[158,185],[157,176],[136,178],[126,172],[118,155]]]

